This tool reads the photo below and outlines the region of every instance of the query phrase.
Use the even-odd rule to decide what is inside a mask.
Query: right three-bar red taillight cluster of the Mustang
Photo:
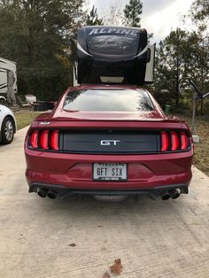
[[[186,132],[161,131],[161,151],[186,151],[190,147]]]

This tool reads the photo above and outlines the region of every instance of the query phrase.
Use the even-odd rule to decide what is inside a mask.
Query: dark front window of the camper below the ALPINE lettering
[[[135,56],[138,37],[128,35],[96,35],[88,38],[89,53]]]

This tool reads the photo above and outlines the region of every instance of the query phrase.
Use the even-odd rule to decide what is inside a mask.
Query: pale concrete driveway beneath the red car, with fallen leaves
[[[102,278],[119,258],[120,277],[209,277],[205,174],[194,168],[190,194],[166,202],[43,199],[27,193],[26,131],[0,146],[1,278]]]

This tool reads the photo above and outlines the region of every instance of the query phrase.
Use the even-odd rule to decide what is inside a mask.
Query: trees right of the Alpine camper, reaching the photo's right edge
[[[207,31],[209,2],[195,0],[189,18],[195,31],[177,28],[159,43],[156,55],[155,91],[161,104],[180,104],[192,99],[189,81],[195,81],[201,91],[209,90],[209,35]],[[187,95],[186,92],[190,95]],[[203,101],[201,103],[203,113]]]

